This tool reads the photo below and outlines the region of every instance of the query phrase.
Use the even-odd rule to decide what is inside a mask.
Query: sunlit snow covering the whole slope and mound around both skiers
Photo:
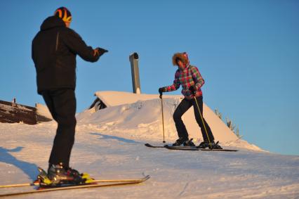
[[[102,98],[107,100],[113,95],[108,94],[102,94]],[[131,99],[125,101],[128,103],[117,103],[114,98],[116,102],[105,109],[77,115],[71,165],[96,179],[132,179],[150,174],[148,181],[13,198],[299,198],[299,156],[266,152],[237,139],[226,129],[215,129],[216,140],[224,148],[237,148],[238,152],[145,147],[145,143],[163,144],[161,101],[157,96],[137,100],[131,96],[127,96]],[[177,139],[171,115],[179,101],[171,96],[164,99],[166,143]],[[220,121],[209,110],[204,107],[206,120],[214,131]],[[194,116],[186,115],[184,120],[190,122]],[[190,122],[188,131],[198,144],[201,136],[194,125]],[[47,168],[56,127],[55,122],[0,123],[0,184],[32,181],[37,166]],[[1,188],[0,194],[31,189]]]

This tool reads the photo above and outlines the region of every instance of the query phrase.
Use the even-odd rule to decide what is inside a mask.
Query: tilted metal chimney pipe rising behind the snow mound
[[[131,54],[131,56],[129,56],[129,60],[131,62],[132,83],[133,83],[134,94],[141,94],[138,58],[139,58],[138,53],[133,53]]]

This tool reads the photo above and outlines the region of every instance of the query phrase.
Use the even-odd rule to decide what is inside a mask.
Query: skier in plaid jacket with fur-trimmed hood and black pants
[[[179,139],[173,143],[173,146],[180,146],[181,144],[184,146],[195,146],[192,140],[189,139],[187,129],[181,118],[182,115],[193,105],[195,119],[201,128],[201,134],[204,138],[204,141],[199,145],[199,147],[220,148],[220,146],[215,144],[213,133],[206,120],[204,120],[204,117],[202,117],[203,100],[201,86],[204,85],[204,79],[201,77],[199,70],[197,67],[190,65],[187,53],[175,53],[173,55],[173,65],[178,65],[178,70],[175,72],[173,84],[171,86],[159,88],[161,96],[163,92],[175,91],[181,85],[182,95],[185,96],[173,113],[173,120],[179,137]],[[197,108],[197,103],[194,98],[197,99],[199,108]],[[199,109],[201,113],[199,113]]]

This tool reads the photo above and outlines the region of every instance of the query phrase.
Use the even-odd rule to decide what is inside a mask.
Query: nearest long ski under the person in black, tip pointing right
[[[20,191],[15,193],[4,193],[0,194],[0,197],[6,197],[6,196],[12,196],[12,195],[25,195],[25,194],[32,194],[32,193],[44,193],[44,192],[50,192],[50,191],[62,191],[62,190],[69,190],[69,189],[79,189],[79,188],[96,188],[96,187],[106,187],[106,186],[124,186],[124,185],[130,185],[130,184],[140,184],[144,181],[147,181],[147,179],[150,179],[150,175],[147,175],[143,177],[142,179],[135,179],[135,180],[129,180],[129,181],[108,181],[105,184],[98,184],[98,183],[91,183],[91,184],[80,184],[80,185],[66,185],[66,186],[60,186],[60,187],[48,187],[48,188],[39,188],[32,191]]]

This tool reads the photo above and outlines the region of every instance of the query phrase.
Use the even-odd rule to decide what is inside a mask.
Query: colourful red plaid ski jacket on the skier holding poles
[[[192,91],[189,90],[190,86],[196,89],[195,96],[202,96],[201,86],[204,85],[204,79],[201,77],[197,67],[193,65],[187,66],[184,70],[178,69],[175,72],[175,80],[171,86],[165,86],[165,92],[175,91],[182,85],[182,95],[185,98],[191,99],[194,97]]]

